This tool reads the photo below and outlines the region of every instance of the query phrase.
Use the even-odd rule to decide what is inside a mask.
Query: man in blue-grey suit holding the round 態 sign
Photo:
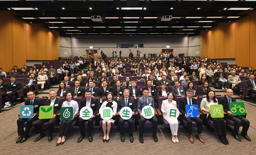
[[[157,125],[158,125],[158,121],[157,118],[155,117],[155,115],[153,115],[152,118],[150,119],[146,119],[143,115],[142,115],[142,108],[144,106],[151,106],[154,109],[154,114],[155,114],[155,104],[154,104],[154,100],[153,98],[149,97],[149,90],[147,88],[145,88],[143,90],[143,96],[138,100],[138,114],[140,115],[140,127],[139,127],[139,131],[140,131],[140,136],[139,136],[139,141],[141,143],[144,143],[144,139],[143,139],[143,129],[144,129],[144,123],[145,121],[149,120],[153,123],[153,139],[155,142],[158,142],[158,138],[157,138]]]

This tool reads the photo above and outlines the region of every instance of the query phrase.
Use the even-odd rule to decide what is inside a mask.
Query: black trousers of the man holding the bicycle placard
[[[247,134],[247,131],[250,127],[250,121],[248,121],[246,118],[242,117],[241,115],[234,116],[234,115],[227,114],[225,117],[235,122],[233,134],[238,134],[240,126],[242,126],[241,133]]]

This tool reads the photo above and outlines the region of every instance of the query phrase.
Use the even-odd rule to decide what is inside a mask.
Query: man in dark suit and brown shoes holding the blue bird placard
[[[197,118],[188,118],[188,116],[186,115],[186,105],[196,104],[196,99],[192,98],[192,96],[194,95],[194,90],[188,89],[186,91],[186,95],[187,95],[187,97],[182,98],[180,100],[179,110],[182,113],[182,117],[183,117],[184,121],[187,122],[187,129],[188,129],[188,134],[189,134],[188,139],[191,143],[194,143],[194,139],[192,136],[192,121],[195,121],[197,124],[196,138],[198,138],[198,140],[200,140],[200,142],[204,143],[204,140],[200,136],[200,134],[202,133],[202,128],[203,128],[203,121],[202,121],[202,119],[199,118],[200,115],[198,114]]]

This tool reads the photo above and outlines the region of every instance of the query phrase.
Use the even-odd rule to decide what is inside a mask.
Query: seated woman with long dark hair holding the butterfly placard
[[[226,137],[227,136],[226,122],[222,118],[211,117],[210,106],[217,105],[217,104],[218,104],[218,100],[215,98],[215,92],[209,91],[208,94],[206,95],[206,98],[203,98],[200,104],[200,109],[207,113],[207,116],[206,116],[207,119],[213,121],[219,136],[219,140],[221,140],[221,142],[224,145],[227,145],[229,144],[229,141],[227,140],[227,137]]]

